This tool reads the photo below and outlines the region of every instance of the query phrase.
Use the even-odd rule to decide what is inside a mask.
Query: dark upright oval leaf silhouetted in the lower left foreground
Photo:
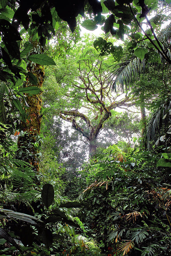
[[[44,205],[48,208],[50,205],[52,205],[54,200],[54,188],[51,184],[44,184],[42,188],[42,202]]]

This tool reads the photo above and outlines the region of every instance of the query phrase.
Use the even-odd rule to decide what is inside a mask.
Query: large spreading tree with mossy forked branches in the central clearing
[[[91,46],[82,48],[78,46],[71,53],[70,58],[75,57],[74,80],[71,81],[71,88],[65,94],[66,106],[60,110],[60,117],[72,123],[72,127],[79,131],[89,143],[89,154],[95,154],[97,136],[105,121],[111,117],[111,110],[129,108],[134,101],[130,95],[119,95],[111,93],[111,83],[108,82],[107,65],[109,58],[99,57]],[[79,51],[79,53],[78,53]],[[70,64],[71,65],[71,60]],[[66,67],[67,70],[68,67]],[[70,70],[71,76],[73,71]],[[61,83],[66,81],[61,80]],[[132,102],[131,102],[132,100]],[[73,108],[71,109],[71,106]],[[86,123],[86,129],[82,127]]]

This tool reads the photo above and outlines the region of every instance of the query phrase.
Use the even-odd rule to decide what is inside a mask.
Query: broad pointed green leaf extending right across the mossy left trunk
[[[54,60],[46,54],[32,54],[32,55],[28,56],[28,59],[30,61],[33,61],[33,62],[39,64],[39,65],[56,66],[56,63],[54,62]]]

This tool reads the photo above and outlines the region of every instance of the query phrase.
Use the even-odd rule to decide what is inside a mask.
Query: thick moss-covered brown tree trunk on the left
[[[38,41],[32,42],[34,47],[37,49],[39,45]],[[40,49],[42,47],[40,46]],[[35,54],[33,52],[32,54]],[[44,67],[39,64],[31,66],[31,62],[27,65],[27,70],[32,72],[33,75],[37,78],[37,87],[40,88],[40,93],[37,95],[27,94],[27,104],[29,108],[26,109],[27,119],[22,121],[22,130],[24,132],[23,136],[19,136],[18,139],[18,150],[17,157],[25,160],[33,166],[33,169],[36,172],[39,172],[39,162],[37,158],[38,150],[35,147],[35,142],[37,135],[40,134],[40,125],[41,125],[41,116],[40,109],[42,107],[42,84],[44,81]],[[24,87],[32,86],[29,79],[26,79],[26,82],[23,85]]]

